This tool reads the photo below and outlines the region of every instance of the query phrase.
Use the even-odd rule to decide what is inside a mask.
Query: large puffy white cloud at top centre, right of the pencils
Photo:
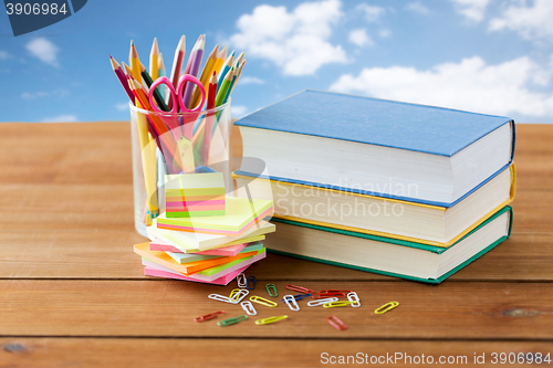
[[[230,43],[253,57],[265,59],[285,75],[314,74],[321,66],[347,61],[341,45],[327,40],[343,17],[338,0],[285,7],[259,6],[237,21]]]

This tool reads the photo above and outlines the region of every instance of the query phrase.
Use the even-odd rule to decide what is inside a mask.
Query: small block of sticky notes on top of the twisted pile
[[[166,175],[165,203],[167,218],[225,214],[222,172]]]

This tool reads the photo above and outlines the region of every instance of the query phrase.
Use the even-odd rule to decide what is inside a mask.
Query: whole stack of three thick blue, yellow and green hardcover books
[[[307,90],[234,124],[267,165],[274,252],[440,283],[510,235],[510,118]]]

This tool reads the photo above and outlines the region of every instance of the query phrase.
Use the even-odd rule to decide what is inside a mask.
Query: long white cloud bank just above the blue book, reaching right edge
[[[330,88],[477,113],[553,117],[553,94],[532,91],[549,86],[551,75],[551,69],[526,56],[497,65],[473,56],[427,71],[406,66],[364,69],[357,76],[342,75]]]

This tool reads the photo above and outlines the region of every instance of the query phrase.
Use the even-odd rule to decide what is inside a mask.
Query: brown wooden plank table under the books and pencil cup
[[[0,124],[0,366],[314,367],[323,353],[467,356],[469,366],[486,354],[498,366],[492,353],[553,355],[553,126],[517,129],[512,236],[441,285],[274,254],[248,270],[258,287],[357,291],[363,306],[340,311],[349,329],[338,332],[327,311],[306,307],[259,307],[291,316],[269,326],[195,323],[242,314],[207,298],[234,283],[145,277],[128,123]],[[373,314],[393,299],[397,309]]]

